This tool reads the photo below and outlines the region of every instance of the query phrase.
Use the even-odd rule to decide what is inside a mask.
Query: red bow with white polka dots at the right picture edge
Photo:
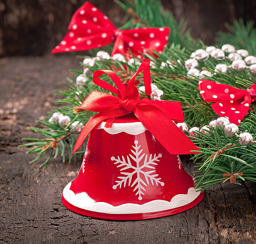
[[[213,102],[211,107],[220,116],[239,124],[248,113],[251,102],[256,99],[256,84],[247,90],[219,84],[214,81],[199,81],[199,92],[205,102]]]

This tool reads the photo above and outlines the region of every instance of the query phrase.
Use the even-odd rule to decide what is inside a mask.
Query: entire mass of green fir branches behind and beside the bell
[[[146,2],[146,4],[145,4]],[[170,101],[180,101],[184,113],[184,121],[193,126],[203,126],[208,124],[211,120],[217,118],[213,109],[209,103],[204,102],[198,92],[198,78],[191,78],[187,76],[187,70],[185,68],[185,61],[190,58],[190,55],[195,49],[205,49],[204,43],[201,41],[193,40],[189,32],[186,31],[186,23],[177,23],[172,14],[169,11],[163,9],[160,1],[149,0],[139,1],[125,0],[122,2],[117,1],[119,5],[128,13],[131,17],[123,29],[138,28],[142,26],[169,26],[171,28],[169,44],[163,53],[155,52],[158,58],[152,55],[142,53],[145,58],[151,59],[151,81],[158,88],[164,91],[164,99]],[[122,29],[121,28],[121,29]],[[234,23],[234,26],[230,29],[233,30],[233,34],[229,37],[219,39],[219,45],[225,43],[232,43],[231,40],[240,40],[240,29],[249,30],[244,31],[243,35],[248,35],[244,46],[236,46],[237,49],[244,48],[249,49],[251,41],[254,41],[256,36],[255,29],[251,24],[249,27],[243,25],[240,22]],[[224,34],[222,35],[224,37]],[[243,37],[246,39],[246,36]],[[223,42],[222,42],[223,41]],[[222,43],[221,43],[222,42]],[[237,45],[237,43],[234,43]],[[111,50],[110,47],[104,47],[104,50]],[[256,49],[255,49],[256,50]],[[92,56],[95,54],[95,50],[92,50]],[[253,54],[250,53],[250,54]],[[86,56],[80,56],[79,58],[86,58]],[[102,91],[102,88],[93,84],[92,76],[84,85],[77,85],[75,79],[79,75],[83,75],[83,70],[89,68],[93,73],[95,70],[118,70],[117,75],[125,82],[130,79],[131,76],[139,68],[139,60],[135,58],[136,62],[133,64],[122,63],[121,61],[113,60],[101,60],[96,61],[93,67],[85,67],[81,62],[81,70],[72,70],[74,78],[68,78],[69,84],[66,85],[66,91],[57,91],[61,94],[61,98],[57,100],[59,106],[54,111],[49,113],[49,117],[46,117],[43,121],[38,121],[43,124],[43,128],[32,127],[31,130],[37,134],[40,134],[45,139],[37,138],[24,138],[29,141],[22,147],[32,147],[28,153],[37,153],[36,159],[31,163],[46,157],[44,163],[41,166],[49,162],[52,156],[57,157],[61,155],[63,162],[66,160],[66,156],[72,160],[71,150],[78,137],[76,128],[72,127],[73,121],[86,124],[87,120],[92,117],[93,112],[83,111],[79,109],[79,106],[86,98],[86,96],[92,91]],[[168,61],[168,63],[167,63]],[[199,70],[208,70],[211,73],[215,73],[214,68],[220,62],[216,59],[209,58],[203,63],[199,63]],[[221,61],[228,66],[231,64],[229,59]],[[124,67],[125,65],[125,67]],[[141,76],[138,76],[138,79]],[[104,81],[113,82],[108,76],[103,76]],[[252,75],[247,69],[243,72],[236,72],[233,69],[229,69],[228,73],[218,73],[209,78],[213,81],[232,85],[236,88],[246,89],[255,84],[255,76]],[[143,85],[143,84],[141,84]],[[144,94],[145,95],[145,94]],[[239,126],[240,131],[248,131],[252,135],[256,135],[255,127],[255,106],[251,106],[248,115],[246,115],[246,121]],[[71,118],[70,124],[66,127],[61,127],[58,123],[50,123],[48,120],[54,112],[60,112],[64,115],[69,115]],[[210,128],[209,135],[198,132],[199,138],[192,138],[196,145],[201,150],[201,154],[195,154],[193,160],[195,160],[198,167],[196,172],[196,187],[206,189],[216,183],[222,182],[226,179],[231,180],[233,183],[240,178],[241,180],[254,180],[256,177],[256,163],[255,163],[255,145],[249,145],[248,147],[240,145],[238,138],[228,138],[223,128]],[[84,143],[84,145],[86,142]],[[77,153],[83,153],[84,148]],[[67,152],[67,153],[66,153]],[[76,156],[76,154],[74,154]],[[223,176],[225,175],[225,176]]]

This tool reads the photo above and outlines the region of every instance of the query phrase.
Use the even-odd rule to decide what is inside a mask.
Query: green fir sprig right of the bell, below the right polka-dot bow
[[[256,115],[239,124],[240,132],[249,132],[256,139]],[[196,162],[196,188],[203,191],[217,183],[230,180],[256,181],[256,145],[239,144],[239,136],[226,136],[224,127],[208,127],[207,133],[197,131],[190,137],[200,149],[192,158]]]

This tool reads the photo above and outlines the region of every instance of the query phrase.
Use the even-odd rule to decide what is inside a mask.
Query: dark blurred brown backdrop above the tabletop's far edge
[[[0,56],[45,55],[67,32],[75,11],[86,0],[0,0]],[[91,0],[114,25],[125,15],[113,0]],[[185,17],[192,35],[213,44],[223,23],[256,19],[255,0],[162,0],[176,20]]]

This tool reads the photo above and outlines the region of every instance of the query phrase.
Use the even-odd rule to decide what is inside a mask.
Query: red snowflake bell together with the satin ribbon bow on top
[[[172,121],[183,121],[180,103],[140,100],[133,83],[142,71],[150,94],[149,59],[144,59],[128,84],[104,71],[117,85],[117,97],[94,92],[81,105],[98,114],[76,142],[74,151],[89,134],[80,172],[63,190],[62,202],[73,212],[100,219],[151,219],[183,212],[204,197],[178,156],[198,150]],[[94,73],[95,84],[114,91],[101,75]]]

